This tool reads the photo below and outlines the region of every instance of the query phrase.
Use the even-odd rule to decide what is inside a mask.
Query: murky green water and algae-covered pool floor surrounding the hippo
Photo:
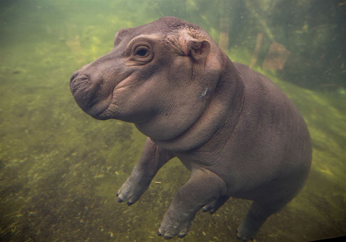
[[[69,87],[119,29],[162,16],[204,28],[232,61],[279,85],[308,124],[306,185],[255,241],[346,235],[345,14],[345,1],[0,1],[0,241],[164,241],[156,231],[189,171],[175,158],[138,202],[117,203],[146,137],[91,118]],[[200,211],[171,241],[237,241],[250,203]]]

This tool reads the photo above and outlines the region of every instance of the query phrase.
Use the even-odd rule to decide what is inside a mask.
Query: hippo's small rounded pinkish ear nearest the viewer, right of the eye
[[[211,49],[210,42],[206,39],[199,40],[192,38],[187,32],[179,36],[179,44],[185,55],[191,55],[194,59],[206,58]]]

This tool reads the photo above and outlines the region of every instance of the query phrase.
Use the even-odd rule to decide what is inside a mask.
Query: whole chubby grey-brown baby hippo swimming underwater
[[[233,63],[201,27],[163,17],[121,29],[110,53],[71,77],[80,108],[132,122],[149,138],[118,201],[135,203],[168,160],[191,171],[158,235],[184,237],[197,211],[254,202],[237,230],[254,238],[304,184],[311,141],[297,108],[267,77]]]

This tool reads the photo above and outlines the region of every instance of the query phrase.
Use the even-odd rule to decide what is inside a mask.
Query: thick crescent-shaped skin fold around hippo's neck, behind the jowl
[[[202,146],[227,122],[235,126],[243,105],[244,83],[234,64],[224,54],[226,68],[203,113],[190,128],[168,140],[152,139],[156,145],[175,152]],[[229,115],[231,113],[231,115]]]

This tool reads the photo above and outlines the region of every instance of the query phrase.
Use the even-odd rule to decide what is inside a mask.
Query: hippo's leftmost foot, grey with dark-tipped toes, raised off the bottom
[[[131,175],[118,190],[117,201],[119,203],[127,201],[127,205],[129,206],[134,204],[148,188],[150,182]]]

